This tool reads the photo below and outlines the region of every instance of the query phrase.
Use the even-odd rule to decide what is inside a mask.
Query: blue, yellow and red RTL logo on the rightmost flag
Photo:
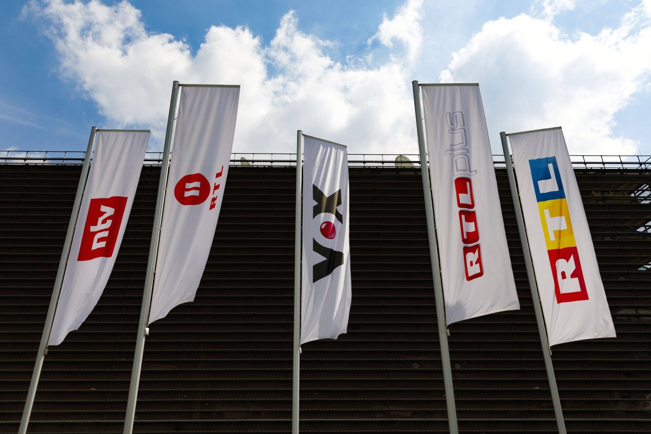
[[[556,157],[529,160],[556,302],[588,300],[579,251]]]

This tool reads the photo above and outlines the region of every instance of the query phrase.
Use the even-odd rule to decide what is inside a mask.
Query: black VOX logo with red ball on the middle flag
[[[314,219],[312,220],[312,223],[320,222],[320,220],[316,220],[316,217],[325,212],[327,214],[332,214],[335,216],[335,219],[339,221],[339,224],[343,224],[343,216],[337,209],[337,207],[341,205],[341,189],[326,196],[316,185],[312,184],[312,199],[316,201],[316,205],[312,207],[312,218]],[[319,225],[319,232],[326,240],[333,240],[337,237],[337,227],[335,227],[335,224],[329,220],[326,220]],[[312,266],[312,283],[329,276],[335,268],[344,265],[343,252],[337,252],[337,250],[323,246],[314,238],[312,238],[312,250],[326,258],[320,263],[316,263]]]

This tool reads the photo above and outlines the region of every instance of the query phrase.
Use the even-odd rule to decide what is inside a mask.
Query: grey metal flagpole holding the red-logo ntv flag
[[[45,320],[43,327],[43,335],[41,337],[40,345],[38,346],[38,354],[36,354],[36,363],[34,364],[34,371],[32,373],[32,381],[29,383],[29,391],[27,392],[27,399],[25,400],[25,409],[23,410],[23,418],[20,421],[19,434],[27,432],[27,424],[29,424],[29,416],[32,412],[34,405],[34,398],[36,396],[36,386],[38,386],[38,379],[40,378],[40,371],[43,367],[43,360],[48,354],[48,341],[49,334],[52,331],[52,323],[54,321],[54,314],[57,311],[57,302],[59,302],[59,295],[61,294],[61,285],[63,284],[63,276],[66,271],[66,263],[68,263],[68,255],[70,255],[70,246],[72,246],[72,236],[75,232],[75,225],[77,223],[77,216],[79,215],[79,208],[81,207],[81,197],[86,187],[88,172],[90,167],[90,154],[92,154],[92,147],[95,143],[95,136],[97,135],[98,128],[92,126],[90,128],[90,138],[88,139],[88,147],[81,166],[81,175],[79,177],[79,185],[77,186],[77,195],[72,205],[72,214],[70,215],[70,223],[68,224],[68,233],[66,233],[66,240],[63,243],[63,252],[61,253],[61,261],[59,261],[59,270],[57,270],[57,278],[54,281],[54,288],[52,291],[52,298],[49,301],[48,316]]]

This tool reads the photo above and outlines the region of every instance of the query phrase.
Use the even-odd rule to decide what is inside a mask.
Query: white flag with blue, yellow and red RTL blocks
[[[561,128],[508,136],[549,345],[615,338]]]

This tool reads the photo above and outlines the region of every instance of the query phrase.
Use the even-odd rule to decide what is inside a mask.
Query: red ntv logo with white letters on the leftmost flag
[[[124,196],[90,199],[77,261],[113,256],[126,200]]]

